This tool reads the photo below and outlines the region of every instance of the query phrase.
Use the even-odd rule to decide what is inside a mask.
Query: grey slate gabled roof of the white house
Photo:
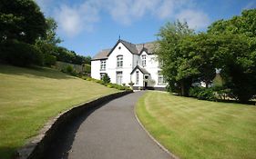
[[[141,55],[141,53],[143,51],[146,51],[146,53],[148,55],[152,55],[152,54],[154,54],[155,45],[157,45],[156,42],[149,42],[146,44],[134,45],[125,40],[119,39],[117,44],[114,45],[114,47],[112,47],[112,49],[105,49],[105,50],[100,51],[99,53],[97,53],[97,55],[95,55],[92,58],[92,60],[108,59],[108,56],[113,52],[113,50],[116,48],[116,46],[119,43],[122,43],[128,49],[128,51],[133,55]]]

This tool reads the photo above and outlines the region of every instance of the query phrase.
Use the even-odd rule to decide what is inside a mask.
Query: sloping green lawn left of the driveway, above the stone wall
[[[49,68],[0,65],[0,158],[15,149],[56,114],[99,96],[118,92]]]

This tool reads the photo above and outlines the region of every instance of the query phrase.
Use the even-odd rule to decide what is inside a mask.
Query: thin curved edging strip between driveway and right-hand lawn
[[[137,111],[136,111],[136,107],[138,105],[136,104],[133,108],[133,114],[135,115],[135,118],[138,122],[138,124],[140,125],[140,127],[146,132],[146,134],[148,134],[148,137],[153,141],[155,142],[156,144],[158,144],[159,148],[162,149],[164,152],[166,152],[167,154],[169,154],[169,156],[172,158],[172,159],[179,159],[178,156],[176,156],[175,154],[172,154],[167,148],[165,148],[162,144],[159,143],[159,141],[157,139],[155,139],[154,136],[152,136],[148,130],[146,129],[146,127],[139,121],[138,119],[138,115],[137,115]]]

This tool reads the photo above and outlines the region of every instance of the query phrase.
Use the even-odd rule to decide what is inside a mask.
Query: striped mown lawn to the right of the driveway
[[[150,91],[139,99],[136,111],[148,132],[180,158],[256,158],[254,105]]]

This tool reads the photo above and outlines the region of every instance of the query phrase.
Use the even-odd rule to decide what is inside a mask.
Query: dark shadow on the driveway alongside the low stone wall
[[[77,116],[75,120],[68,122],[68,126],[59,131],[61,134],[58,134],[55,137],[55,140],[51,142],[50,146],[44,152],[44,156],[42,156],[42,158],[67,159],[68,153],[72,148],[72,144],[75,140],[80,125],[87,119],[90,114],[92,114],[98,108],[102,107],[104,104],[93,108],[87,108],[87,113]]]

